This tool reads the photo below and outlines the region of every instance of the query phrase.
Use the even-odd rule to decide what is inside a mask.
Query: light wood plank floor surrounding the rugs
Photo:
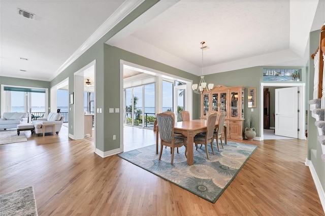
[[[117,155],[99,157],[64,128],[0,145],[1,194],[33,186],[39,215],[324,215],[304,140],[243,140],[258,148],[212,204]],[[127,140],[153,144],[149,132]]]

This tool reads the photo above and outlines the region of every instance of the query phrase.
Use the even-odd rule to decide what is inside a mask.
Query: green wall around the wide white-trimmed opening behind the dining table
[[[112,137],[114,134],[121,134],[120,129],[120,115],[122,113],[116,114],[116,113],[108,113],[109,108],[115,108],[120,107],[120,100],[123,100],[123,98],[120,98],[119,95],[119,89],[120,87],[120,60],[124,60],[127,62],[139,64],[148,68],[152,68],[158,71],[162,71],[164,73],[168,73],[171,75],[179,76],[182,78],[186,78],[189,80],[198,81],[199,77],[196,75],[192,75],[189,73],[186,73],[183,70],[179,70],[177,68],[171,67],[169,65],[153,61],[151,59],[142,57],[140,55],[136,55],[131,52],[127,52],[125,50],[112,47],[105,44],[104,48],[104,56],[105,56],[105,74],[104,74],[104,80],[105,80],[105,103],[104,107],[106,110],[106,114],[104,116],[105,121],[105,134],[104,134],[104,142],[105,142],[105,151],[110,151],[113,149],[119,148],[120,143],[120,137],[116,137],[116,140],[112,140]],[[200,95],[193,94],[193,118],[199,118],[200,117],[200,110],[199,106],[196,104],[200,103]],[[120,107],[120,110],[122,110],[122,107]]]

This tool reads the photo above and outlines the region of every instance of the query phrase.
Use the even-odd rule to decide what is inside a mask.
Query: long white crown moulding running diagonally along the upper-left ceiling
[[[144,0],[126,0],[91,36],[53,73],[50,80],[52,81],[72,62],[79,58],[92,45],[98,42],[104,35],[109,32],[115,25],[124,19],[129,13],[135,10]]]

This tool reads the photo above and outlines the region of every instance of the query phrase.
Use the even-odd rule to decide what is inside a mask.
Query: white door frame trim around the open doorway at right
[[[306,139],[305,130],[305,121],[306,118],[304,118],[303,115],[305,115],[305,83],[260,83],[261,89],[260,89],[260,97],[259,97],[259,119],[261,119],[261,124],[259,125],[259,131],[261,140],[264,140],[264,114],[263,114],[263,100],[264,100],[264,86],[272,86],[272,87],[299,87],[299,105],[298,108],[300,110],[299,112],[299,133],[298,133],[298,139]]]

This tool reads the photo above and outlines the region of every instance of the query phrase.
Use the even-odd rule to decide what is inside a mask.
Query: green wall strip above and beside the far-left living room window
[[[11,85],[11,86],[46,88],[48,90],[48,106],[50,107],[50,84],[51,84],[50,82],[12,78],[12,77],[0,77],[0,85],[2,84]],[[0,101],[1,101],[1,94],[0,94]],[[3,113],[1,107],[0,107],[0,113],[1,114]]]

